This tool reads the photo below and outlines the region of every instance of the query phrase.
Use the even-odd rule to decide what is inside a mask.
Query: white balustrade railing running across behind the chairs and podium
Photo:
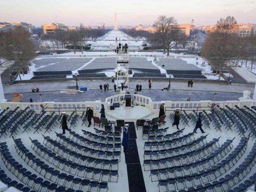
[[[148,106],[151,113],[158,113],[161,102],[164,102],[164,107],[168,111],[167,113],[171,113],[175,108],[182,108],[182,110],[207,110],[213,101],[204,100],[204,101],[152,101],[150,97],[146,97],[139,94],[131,94],[133,102],[138,105]],[[135,98],[134,98],[135,96]],[[68,114],[71,111],[76,111],[77,114],[81,114],[82,111],[86,110],[86,106],[90,105],[93,108],[93,113],[99,115],[99,111],[96,110],[96,105],[100,107],[101,104],[104,104],[106,114],[108,113],[110,105],[113,103],[124,104],[124,94],[117,94],[111,97],[106,98],[105,102],[96,102],[96,101],[86,101],[86,102],[43,102],[45,111],[55,111],[57,114],[61,113],[61,111],[65,110]],[[112,102],[111,102],[112,101]],[[233,108],[235,105],[242,108],[243,106],[247,106],[251,108],[256,105],[255,100],[241,100],[241,101],[215,101],[216,105],[219,105],[221,108],[227,105],[230,108]],[[15,109],[16,107],[20,107],[21,109],[25,109],[29,107],[36,111],[36,113],[40,113],[42,108],[40,106],[41,103],[18,103],[18,102],[1,102],[0,107],[5,109],[9,107],[10,109]],[[32,106],[31,106],[32,105]]]

